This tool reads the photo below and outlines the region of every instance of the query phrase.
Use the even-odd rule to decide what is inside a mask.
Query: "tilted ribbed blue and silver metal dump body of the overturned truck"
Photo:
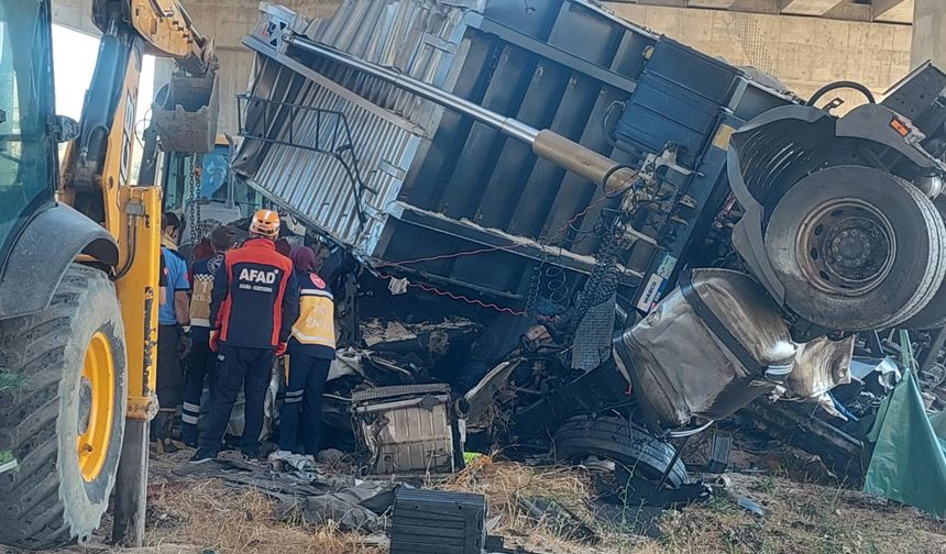
[[[551,129],[616,162],[631,160],[614,148],[604,122],[632,92],[656,37],[588,2],[349,0],[332,19],[296,21],[294,30],[315,42]],[[263,66],[276,62],[287,70],[262,71],[254,95],[350,118],[366,185],[378,190],[364,196],[375,223],[358,231],[351,186],[314,153],[244,141],[238,169],[256,186],[365,254],[494,295],[525,298],[535,268],[549,262],[570,269],[570,287],[591,269],[598,239],[587,231],[616,202],[596,184],[378,79],[293,48],[283,53],[258,31],[245,43],[262,54]],[[333,85],[341,87],[329,90]],[[293,129],[296,142],[300,131]],[[397,160],[381,155],[384,149],[398,153]],[[378,188],[383,167],[392,165],[398,177]],[[485,252],[452,255],[477,248]],[[624,277],[634,284],[639,274]]]

